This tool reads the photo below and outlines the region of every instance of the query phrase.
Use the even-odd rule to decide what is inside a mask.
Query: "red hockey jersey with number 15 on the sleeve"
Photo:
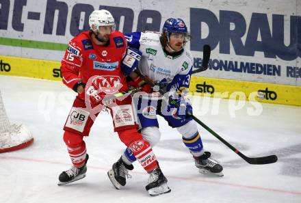
[[[106,94],[118,92],[120,84],[119,91],[127,90],[125,75],[120,69],[120,62],[127,51],[125,36],[114,31],[109,36],[109,44],[99,46],[93,42],[91,35],[92,31],[84,31],[70,40],[62,59],[63,83],[73,88],[78,81],[88,85],[92,82]],[[86,86],[87,90],[89,86]],[[79,94],[79,98],[85,98],[84,92]]]

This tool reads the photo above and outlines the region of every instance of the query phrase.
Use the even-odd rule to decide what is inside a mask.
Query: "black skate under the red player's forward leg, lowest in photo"
[[[145,189],[150,196],[157,196],[171,191],[167,185],[167,179],[159,167],[150,173],[148,185],[146,185]]]

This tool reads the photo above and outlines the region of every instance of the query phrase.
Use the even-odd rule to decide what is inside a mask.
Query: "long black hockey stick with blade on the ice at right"
[[[154,87],[155,84],[150,81],[147,77],[145,77],[144,75],[142,75],[140,72],[136,72],[140,77],[142,77],[142,79],[148,83],[150,86]],[[159,90],[159,92],[164,95],[166,92],[163,92],[163,90]],[[244,161],[250,163],[250,164],[268,164],[268,163],[275,163],[277,161],[277,157],[276,155],[270,155],[267,157],[246,157],[246,155],[244,155],[243,153],[239,152],[239,150],[237,150],[237,148],[235,148],[234,146],[232,146],[231,144],[228,143],[228,141],[224,140],[222,137],[220,137],[220,135],[218,135],[218,133],[215,133],[214,131],[211,130],[211,128],[209,128],[206,124],[204,124],[203,122],[201,122],[200,120],[198,120],[198,118],[196,118],[194,115],[192,115],[191,112],[187,112],[187,116],[192,116],[192,118],[198,123],[200,124],[200,126],[202,126],[203,128],[205,128],[207,131],[209,131],[209,133],[211,133],[211,135],[213,135],[214,137],[218,138],[220,141],[222,141],[223,144],[225,144],[228,148],[231,148],[231,150],[233,150],[233,152],[235,152],[239,157],[241,157],[242,159],[244,159]]]

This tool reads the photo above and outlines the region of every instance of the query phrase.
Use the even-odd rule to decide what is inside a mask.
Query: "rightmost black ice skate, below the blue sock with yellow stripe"
[[[201,174],[209,174],[213,176],[224,176],[222,173],[222,165],[209,158],[211,156],[210,152],[204,152],[200,157],[194,157],[196,167],[198,167],[198,172]]]

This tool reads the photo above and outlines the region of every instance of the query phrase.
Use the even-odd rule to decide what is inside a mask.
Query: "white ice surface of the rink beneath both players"
[[[301,107],[263,103],[262,112],[250,116],[250,103],[233,111],[233,100],[194,98],[194,115],[248,157],[278,156],[276,163],[250,165],[199,127],[205,150],[224,167],[223,177],[199,174],[181,135],[159,118],[162,137],[153,150],[172,191],[150,197],[144,189],[148,174],[138,163],[120,190],[107,178],[125,147],[106,112],[85,139],[86,178],[57,186],[60,172],[70,168],[62,127],[75,94],[60,82],[22,77],[0,76],[0,88],[10,121],[25,124],[35,139],[29,148],[0,154],[1,203],[301,202]]]

